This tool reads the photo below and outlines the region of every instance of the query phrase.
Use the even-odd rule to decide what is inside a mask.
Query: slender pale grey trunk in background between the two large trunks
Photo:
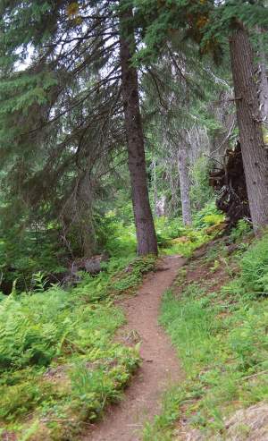
[[[182,220],[184,225],[191,225],[192,216],[190,208],[190,181],[188,175],[188,149],[180,148],[178,152],[178,169],[180,177],[180,199],[182,209]]]

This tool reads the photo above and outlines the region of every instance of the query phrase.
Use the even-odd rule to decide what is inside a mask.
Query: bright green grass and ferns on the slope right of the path
[[[196,428],[204,439],[228,439],[224,417],[267,401],[268,234],[248,248],[242,233],[232,233],[240,245],[225,260],[239,269],[236,276],[229,273],[227,284],[212,292],[204,277],[185,283],[179,296],[176,290],[164,296],[160,322],[178,350],[186,379],[167,391],[162,413],[144,429],[144,441],[179,440],[180,419],[184,432]],[[211,267],[211,257],[199,259],[197,269],[207,268],[207,262]]]

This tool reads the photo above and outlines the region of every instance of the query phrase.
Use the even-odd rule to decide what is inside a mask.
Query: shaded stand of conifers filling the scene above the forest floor
[[[38,271],[61,281],[76,259],[116,253],[124,247],[116,236],[133,233],[134,221],[138,252],[147,254],[163,242],[163,216],[177,225],[175,237],[182,225],[196,225],[200,209],[214,214],[208,175],[224,169],[226,150],[237,145],[239,128],[245,132],[232,82],[243,60],[232,57],[229,40],[248,31],[254,71],[237,83],[254,82],[255,133],[246,130],[240,142],[242,152],[252,151],[247,141],[262,144],[256,187],[266,188],[266,26],[264,2],[3,2],[4,292],[14,280],[29,290]],[[254,158],[245,158],[250,168]],[[258,193],[255,171],[246,172],[249,205],[260,214],[254,224],[264,225],[266,191]]]

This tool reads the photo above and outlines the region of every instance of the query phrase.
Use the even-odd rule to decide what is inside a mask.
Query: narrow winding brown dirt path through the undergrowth
[[[184,263],[180,256],[161,259],[156,272],[146,277],[138,294],[121,302],[128,329],[135,329],[142,341],[143,361],[121,403],[106,412],[105,419],[83,437],[84,441],[138,441],[145,421],[159,413],[163,391],[183,378],[172,344],[158,325],[158,313],[163,293]]]

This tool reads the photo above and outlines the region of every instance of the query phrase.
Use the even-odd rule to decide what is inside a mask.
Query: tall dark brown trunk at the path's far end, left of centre
[[[121,93],[129,156],[132,203],[138,241],[138,255],[157,254],[155,225],[149,203],[144,136],[138,97],[138,72],[131,65],[135,37],[131,8],[121,14]]]

